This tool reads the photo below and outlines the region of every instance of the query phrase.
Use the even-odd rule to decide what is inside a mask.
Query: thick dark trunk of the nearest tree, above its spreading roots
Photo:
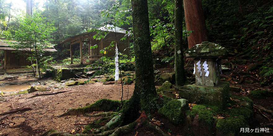
[[[136,62],[135,90],[131,99],[142,111],[151,112],[156,102],[147,0],[132,0],[132,23]]]

